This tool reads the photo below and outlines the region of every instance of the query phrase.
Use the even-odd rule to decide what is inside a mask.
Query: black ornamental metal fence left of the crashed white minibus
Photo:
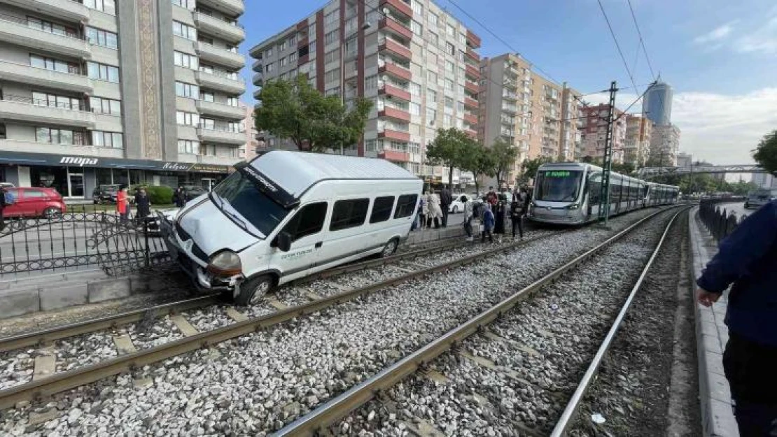
[[[112,212],[73,210],[55,217],[5,219],[0,276],[83,267],[117,276],[169,262],[155,217],[122,222]]]

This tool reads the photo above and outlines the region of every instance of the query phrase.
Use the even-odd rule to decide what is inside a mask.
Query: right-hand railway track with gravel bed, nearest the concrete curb
[[[558,286],[558,283],[564,283],[564,281],[570,283],[571,279],[568,273],[578,272],[575,269],[584,263],[594,263],[598,255],[604,254],[608,250],[614,251],[608,256],[614,256],[615,259],[618,259],[617,262],[622,263],[621,266],[630,263],[630,268],[634,269],[635,261],[633,259],[629,260],[629,255],[631,255],[629,251],[639,251],[639,245],[629,242],[628,238],[632,234],[636,234],[641,227],[648,226],[647,223],[657,214],[646,217],[636,224],[627,227],[607,241],[573,258],[570,262],[564,263],[549,274],[542,276],[541,279],[536,280],[513,293],[510,297],[493,305],[493,307],[476,315],[476,317],[472,317],[468,321],[459,324],[458,327],[447,331],[441,337],[406,355],[391,366],[385,367],[374,376],[350,387],[339,396],[320,405],[319,408],[286,425],[277,432],[277,435],[326,435],[327,432],[356,435],[358,432],[374,432],[378,429],[385,435],[393,435],[395,432],[402,433],[407,430],[419,435],[441,435],[443,433],[448,435],[472,435],[473,432],[463,428],[446,428],[443,432],[441,429],[434,428],[434,424],[430,424],[428,421],[441,416],[444,416],[448,421],[456,421],[458,416],[462,414],[462,411],[490,410],[490,408],[486,407],[491,407],[493,410],[501,412],[501,414],[497,412],[497,416],[503,416],[499,420],[504,422],[502,424],[504,428],[497,429],[496,425],[492,428],[487,421],[477,423],[476,420],[472,420],[472,417],[477,416],[477,414],[473,414],[472,417],[468,417],[468,421],[469,425],[476,425],[475,429],[477,431],[474,434],[486,432],[487,429],[489,435],[513,435],[519,433],[522,435],[547,435],[550,431],[549,425],[552,423],[551,416],[559,414],[559,410],[561,410],[559,407],[563,400],[570,399],[569,403],[566,404],[566,408],[563,408],[563,412],[559,414],[555,428],[552,428],[552,435],[566,435],[566,431],[573,423],[578,408],[580,408],[580,400],[594,379],[601,359],[608,351],[613,338],[615,338],[618,328],[622,324],[623,317],[629,310],[633,297],[639,291],[650,266],[653,265],[653,261],[657,258],[660,249],[664,245],[667,233],[675,219],[686,210],[684,208],[677,211],[670,220],[667,220],[667,225],[664,227],[664,231],[658,239],[655,248],[652,251],[643,252],[643,258],[646,261],[636,262],[636,266],[640,267],[639,271],[641,272],[636,277],[636,282],[630,286],[631,291],[625,297],[625,301],[617,296],[608,297],[605,300],[608,300],[610,307],[602,304],[601,307],[587,308],[589,311],[602,311],[604,313],[611,313],[611,310],[618,307],[619,310],[615,311],[617,315],[611,322],[604,341],[598,345],[598,348],[595,348],[596,352],[592,354],[593,358],[588,363],[587,370],[579,382],[575,383],[573,380],[570,380],[568,373],[575,373],[575,370],[579,370],[580,365],[583,364],[582,362],[574,362],[571,365],[565,364],[561,361],[562,357],[559,356],[563,355],[559,353],[559,349],[563,348],[553,349],[552,347],[545,351],[549,354],[549,362],[542,362],[542,356],[540,356],[541,359],[537,359],[539,355],[542,355],[542,352],[538,352],[537,349],[542,351],[541,346],[548,342],[563,342],[571,349],[594,345],[595,341],[584,336],[593,335],[592,333],[595,333],[596,329],[586,331],[586,328],[581,328],[580,331],[565,332],[569,336],[566,339],[559,338],[561,337],[560,335],[556,336],[561,331],[539,330],[538,335],[535,335],[536,338],[534,338],[535,340],[538,339],[538,342],[531,343],[531,338],[529,337],[524,337],[522,342],[515,341],[510,339],[510,333],[514,335],[516,333],[520,334],[525,329],[525,327],[521,328],[521,325],[528,323],[521,319],[524,317],[534,321],[539,319],[531,318],[533,314],[531,310],[522,313],[521,317],[510,318],[510,314],[514,313],[517,306],[527,303],[528,297],[537,297],[540,294],[538,292],[541,290]],[[616,251],[618,248],[616,245],[621,242],[624,248],[630,245],[628,251]],[[633,256],[636,258],[636,255]],[[639,261],[642,261],[642,259],[640,258]],[[601,266],[599,270],[601,270],[598,271],[599,276],[606,275],[610,271],[607,268],[601,269]],[[615,282],[624,281],[620,274],[618,276],[613,275],[616,278]],[[589,277],[589,279],[591,278]],[[626,283],[631,284],[630,279]],[[585,303],[580,301],[573,301],[569,304],[572,307],[585,306]],[[555,303],[550,308],[553,314],[559,310],[563,311],[563,309],[559,309],[554,305]],[[548,311],[547,308],[543,308],[543,310]],[[570,313],[573,312],[574,310],[570,309]],[[552,317],[546,314],[540,317]],[[566,317],[572,316],[568,315]],[[556,320],[563,322],[566,321],[566,317],[557,317]],[[608,320],[608,317],[605,316],[604,320]],[[601,324],[602,322],[598,321],[597,323]],[[492,324],[500,324],[500,326],[491,328],[490,325]],[[475,342],[481,343],[476,345]],[[528,345],[529,343],[535,345],[537,349],[532,349],[531,345]],[[494,358],[497,355],[494,351],[498,350],[502,352],[507,351],[507,355],[510,356],[517,355],[518,365],[510,368],[511,361],[509,359],[498,362]],[[452,351],[452,354],[445,355],[448,351]],[[441,359],[443,359],[443,362],[440,362]],[[521,359],[531,363],[531,365],[523,365],[524,367],[528,366],[528,369],[519,369],[521,367]],[[465,364],[460,364],[459,362],[465,362]],[[512,363],[515,364],[515,362]],[[445,376],[440,369],[447,369],[451,374],[457,374],[458,379],[453,376]],[[487,370],[483,371],[483,369]],[[500,376],[491,374],[494,372]],[[556,378],[538,377],[534,373],[542,373],[542,375],[548,376],[556,375]],[[564,376],[565,374],[566,376]],[[413,376],[415,379],[406,381],[410,376]],[[420,382],[421,380],[427,383]],[[452,382],[453,380],[456,382]],[[477,387],[493,391],[493,396],[481,396],[476,394],[474,390],[469,389],[467,393],[456,392],[462,386],[466,387],[466,383],[462,383],[462,381],[476,380],[480,380],[480,385],[475,383]],[[432,382],[429,383],[429,381]],[[507,389],[504,387],[507,387]],[[507,390],[507,392],[502,390]],[[455,393],[451,393],[451,391]],[[430,398],[439,396],[448,396],[450,399],[448,399],[447,404],[437,404],[437,408],[429,407]],[[517,398],[519,402],[521,398],[527,401],[528,397],[536,397],[538,399],[538,408],[534,411],[522,411],[521,414],[517,414],[516,406],[511,404],[510,401],[505,401],[505,399],[510,397]],[[392,405],[392,408],[386,408],[387,404]],[[376,415],[378,415],[376,411],[381,409],[385,414],[376,418]],[[449,410],[453,410],[453,412]],[[399,414],[397,414],[398,412]],[[517,418],[513,420],[513,417]],[[382,428],[385,424],[389,424],[389,428]],[[507,431],[500,432],[505,430]]]

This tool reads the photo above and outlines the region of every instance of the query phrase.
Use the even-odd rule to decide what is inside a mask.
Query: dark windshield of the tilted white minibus
[[[269,235],[288,214],[282,206],[256,189],[253,182],[241,172],[229,175],[213,191],[263,235]],[[224,206],[219,202],[220,199],[216,199],[214,204],[227,217],[232,217],[232,214],[224,210]]]

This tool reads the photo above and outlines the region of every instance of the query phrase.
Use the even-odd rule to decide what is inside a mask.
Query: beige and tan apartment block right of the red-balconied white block
[[[502,138],[518,148],[510,181],[526,159],[573,160],[579,92],[538,75],[519,54],[484,58],[480,73],[478,137],[486,146]]]

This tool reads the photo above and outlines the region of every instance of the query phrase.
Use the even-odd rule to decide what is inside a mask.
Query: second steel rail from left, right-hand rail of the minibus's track
[[[660,211],[657,213],[660,213]],[[656,213],[653,215],[655,214]],[[653,217],[653,215],[650,217]],[[550,235],[547,237],[534,238],[532,240],[518,241],[488,251],[479,251],[450,262],[444,262],[442,264],[427,267],[426,269],[409,272],[406,275],[385,279],[378,283],[372,283],[368,286],[338,293],[330,297],[322,297],[319,300],[313,300],[310,303],[305,303],[297,307],[277,310],[274,313],[266,314],[262,317],[235,322],[234,324],[229,324],[212,331],[200,332],[163,345],[141,349],[127,355],[120,355],[113,359],[107,359],[102,362],[79,367],[63,373],[55,373],[54,375],[41,378],[40,380],[34,380],[6,390],[0,390],[0,411],[12,408],[20,401],[34,401],[42,397],[48,397],[65,390],[93,383],[109,376],[131,372],[133,369],[140,369],[142,366],[160,362],[177,355],[183,355],[187,352],[193,352],[197,349],[207,348],[211,345],[231,340],[232,338],[237,338],[254,331],[269,328],[276,324],[291,321],[294,318],[312,314],[326,309],[327,307],[332,307],[339,303],[354,300],[357,297],[384,290],[390,286],[409,281],[410,279],[420,278],[432,273],[444,272],[460,265],[476,262],[482,260],[483,255],[493,255],[503,251],[510,251],[511,249],[527,244],[529,241],[537,241],[549,237]]]

